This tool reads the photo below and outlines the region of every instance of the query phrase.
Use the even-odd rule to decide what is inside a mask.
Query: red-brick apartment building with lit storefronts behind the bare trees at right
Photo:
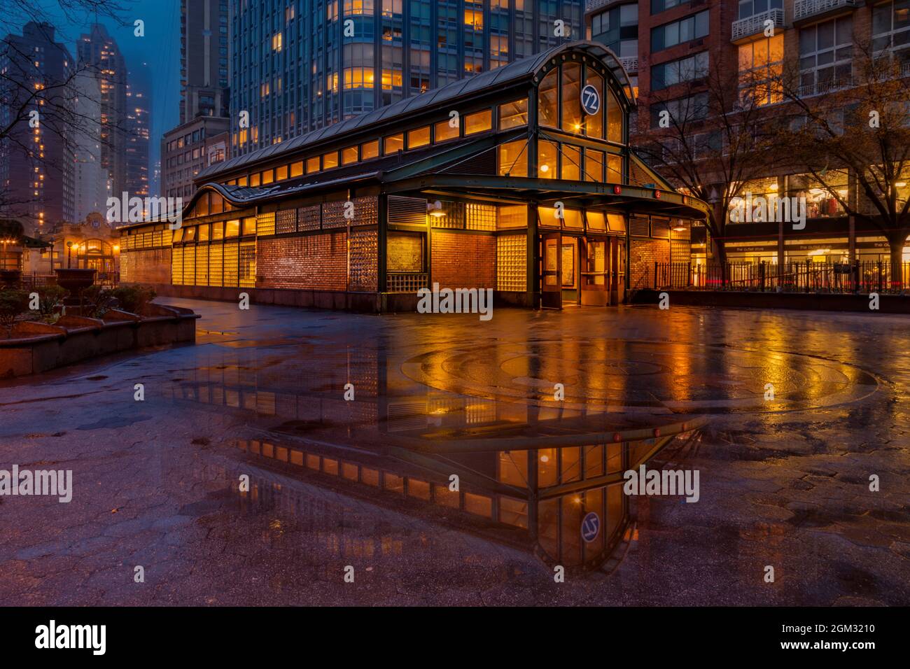
[[[910,76],[910,0],[587,0],[585,29],[620,56],[637,86],[632,131],[640,144],[661,134],[661,112],[698,109],[703,119],[690,127],[708,138],[703,144],[708,153],[719,153],[726,140],[706,101],[718,98],[711,88],[721,81],[729,88],[725,99],[742,100],[748,89],[748,104],[772,118],[794,113],[784,81],[798,77],[798,96],[810,105],[823,96],[835,102],[861,83],[856,62],[864,53],[893,58],[903,76]],[[792,92],[792,82],[788,86]],[[832,120],[843,123],[844,114],[838,118]],[[772,167],[780,162],[772,158],[777,157],[767,157],[761,176],[743,181],[740,189],[772,204],[784,196],[799,198],[806,226],[794,230],[777,222],[731,219],[728,213],[723,239],[714,240],[723,244],[727,259],[755,264],[888,258],[885,231],[849,216],[838,199],[856,202],[863,196],[850,169],[832,164],[823,184],[804,169]],[[910,198],[908,183],[910,174],[895,181],[898,202]],[[720,183],[717,190],[723,190]],[[693,228],[692,241],[693,262],[711,257],[705,228]],[[910,248],[904,259],[910,259]]]

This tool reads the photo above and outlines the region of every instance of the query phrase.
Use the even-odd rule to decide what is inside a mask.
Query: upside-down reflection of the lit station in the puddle
[[[477,530],[564,566],[604,563],[630,523],[622,473],[702,424],[425,387],[389,397],[390,386],[404,389],[388,382],[375,358],[317,382],[281,370],[287,362],[261,370],[237,357],[248,355],[255,354],[230,351],[200,365],[169,397],[242,415],[235,443],[264,470]],[[379,373],[369,391],[345,401],[347,373],[370,368]]]

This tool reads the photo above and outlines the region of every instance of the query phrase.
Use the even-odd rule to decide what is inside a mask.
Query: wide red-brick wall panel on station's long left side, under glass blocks
[[[348,289],[348,233],[257,240],[257,287]]]

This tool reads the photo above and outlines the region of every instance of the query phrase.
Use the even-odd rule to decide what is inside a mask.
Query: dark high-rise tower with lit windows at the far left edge
[[[75,66],[54,34],[52,25],[30,22],[0,42],[0,123],[13,126],[0,142],[0,209],[37,232],[75,216]],[[30,102],[34,91],[42,94]]]

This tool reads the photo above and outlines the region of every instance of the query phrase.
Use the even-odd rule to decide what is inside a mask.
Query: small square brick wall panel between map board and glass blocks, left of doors
[[[432,277],[440,288],[496,288],[496,238],[434,229]]]

